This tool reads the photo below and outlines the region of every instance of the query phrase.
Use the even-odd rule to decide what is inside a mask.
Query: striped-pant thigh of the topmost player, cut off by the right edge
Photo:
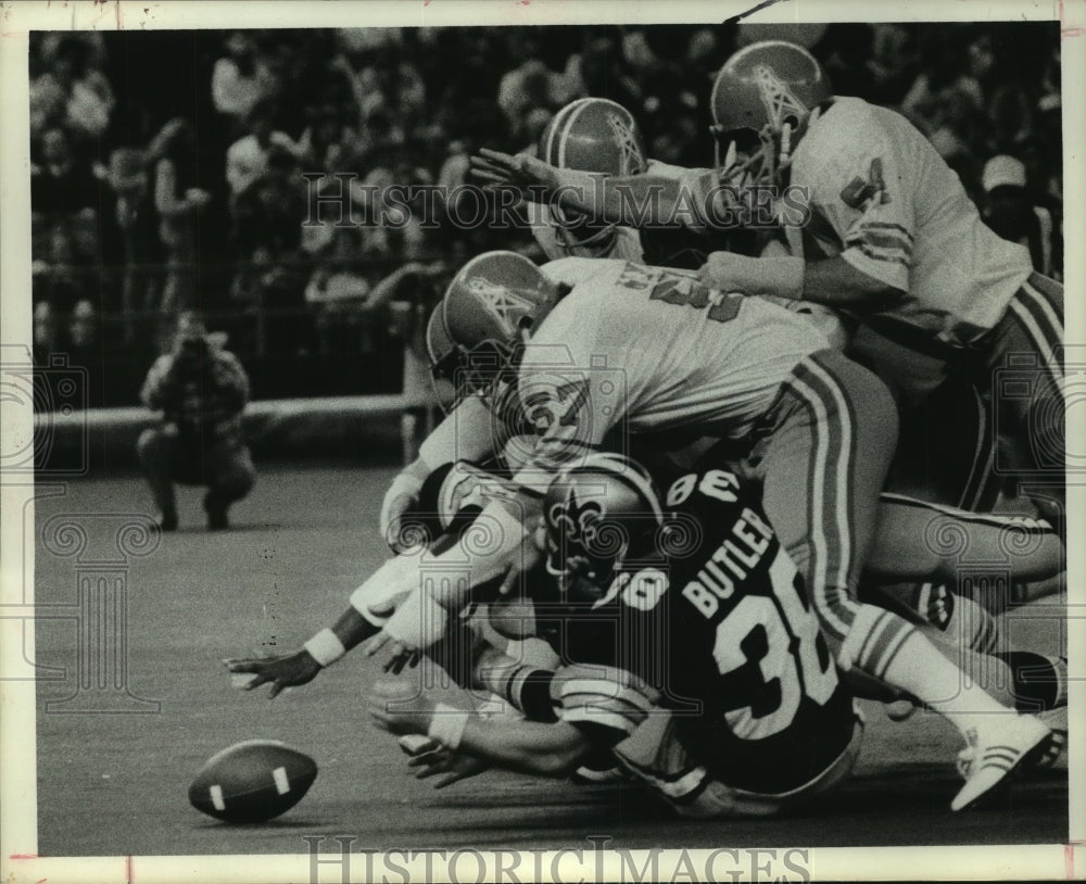
[[[1001,458],[1007,471],[1025,484],[1023,490],[1041,515],[1062,533],[1063,288],[1031,275],[985,345]]]

